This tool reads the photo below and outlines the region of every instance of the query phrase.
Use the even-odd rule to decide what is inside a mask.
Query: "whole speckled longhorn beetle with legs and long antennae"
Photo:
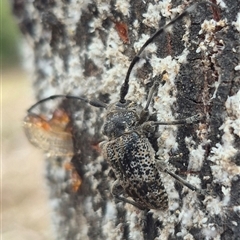
[[[209,3],[213,6],[214,4]],[[181,125],[193,124],[202,119],[202,114],[197,114],[186,119],[180,119],[172,122],[150,121],[149,105],[153,95],[159,86],[159,82],[154,81],[144,108],[137,103],[127,100],[126,95],[129,89],[129,77],[134,65],[140,59],[144,49],[167,27],[174,24],[177,20],[183,18],[191,12],[199,3],[190,5],[183,13],[175,17],[171,22],[166,24],[155,32],[141,47],[139,52],[133,58],[128,68],[125,80],[121,86],[120,98],[112,104],[105,104],[97,100],[89,100],[84,97],[76,97],[69,95],[53,95],[42,99],[28,109],[29,115],[32,110],[39,104],[55,98],[76,99],[97,108],[106,109],[106,119],[103,125],[103,134],[108,137],[107,141],[100,144],[102,154],[111,165],[116,176],[111,192],[114,197],[130,203],[140,209],[161,209],[168,207],[168,195],[165,191],[159,171],[164,171],[178,180],[189,189],[199,194],[205,194],[204,190],[200,190],[180,178],[178,175],[166,169],[159,160],[156,159],[156,153],[150,144],[148,135],[154,133],[159,125]],[[166,71],[163,71],[165,74]],[[28,117],[25,119],[25,131],[29,132]],[[132,200],[121,196],[131,197]]]

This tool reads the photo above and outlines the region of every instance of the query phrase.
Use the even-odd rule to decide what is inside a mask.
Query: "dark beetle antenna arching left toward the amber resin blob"
[[[34,105],[32,105],[27,111],[28,113],[30,113],[35,107],[37,107],[39,104],[46,102],[48,100],[53,100],[55,98],[66,98],[66,99],[75,99],[75,100],[80,100],[86,103],[89,103],[90,105],[97,107],[97,108],[107,108],[107,104],[104,102],[101,102],[99,100],[89,100],[87,98],[83,98],[83,97],[76,97],[76,96],[70,96],[70,95],[52,95],[50,97],[44,98],[40,101],[38,101],[37,103],[35,103]]]

